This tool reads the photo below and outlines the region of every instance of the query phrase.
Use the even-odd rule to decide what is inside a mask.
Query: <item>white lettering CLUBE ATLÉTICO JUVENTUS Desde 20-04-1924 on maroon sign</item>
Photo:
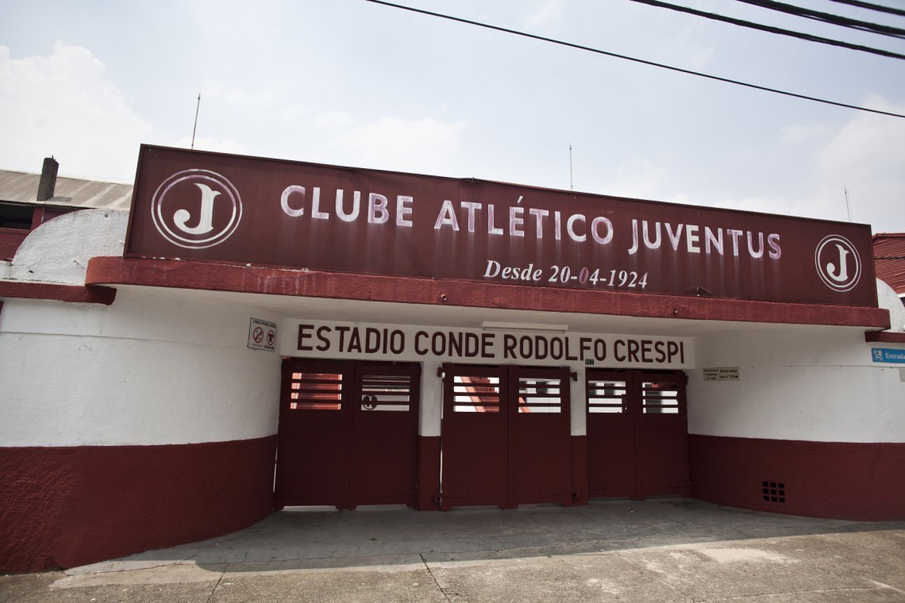
[[[335,190],[335,192],[334,192]],[[414,226],[414,196],[390,196],[377,192],[351,191],[351,203],[342,188],[329,193],[336,197],[333,214],[340,221],[353,223],[359,220],[367,222],[368,227],[412,228]],[[283,188],[280,206],[285,215],[291,218],[307,217],[314,220],[329,220],[328,204],[321,206],[320,187],[302,187],[290,185]],[[364,206],[364,195],[367,195],[367,206]],[[616,228],[613,222],[604,215],[586,215],[584,213],[567,213],[540,207],[520,205],[524,196],[519,196],[516,205],[505,206],[481,201],[454,201],[444,199],[439,211],[431,217],[435,233],[459,233],[469,235],[487,235],[533,238],[541,241],[553,238],[558,241],[571,241],[576,244],[595,244],[601,247],[610,245],[614,240]],[[206,197],[205,197],[206,200]],[[208,202],[208,205],[210,203]],[[308,212],[306,212],[306,205]],[[675,254],[731,255],[747,256],[759,260],[769,258],[778,261],[782,257],[779,235],[760,231],[740,230],[728,227],[711,227],[696,224],[673,224],[671,222],[652,222],[632,219],[627,249],[628,256],[644,250],[670,249]],[[592,243],[593,242],[593,243]],[[668,244],[663,245],[664,242]],[[593,254],[587,254],[593,257]],[[844,256],[843,256],[844,259]],[[547,286],[571,286],[596,289],[616,289],[643,291],[647,288],[648,273],[639,266],[597,263],[561,265],[535,262],[528,266],[507,266],[503,259],[486,257],[481,260],[483,273],[473,274],[474,278],[496,282],[538,283]],[[481,265],[481,264],[479,264]],[[843,264],[841,264],[843,265]],[[835,269],[836,272],[842,269]],[[833,280],[839,281],[847,274],[828,271]],[[827,278],[824,277],[824,280]],[[847,279],[846,279],[847,280]],[[657,289],[661,283],[651,282]],[[835,286],[835,285],[834,285]]]

